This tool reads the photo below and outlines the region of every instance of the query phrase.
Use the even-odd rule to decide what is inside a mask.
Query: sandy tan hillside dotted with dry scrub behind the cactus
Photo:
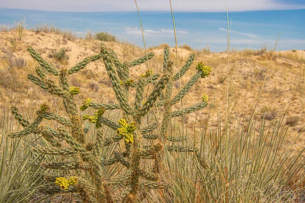
[[[46,60],[54,65],[73,66],[83,58],[99,52],[98,40],[75,39],[69,35],[54,32],[40,32],[23,30],[20,37],[18,30],[0,32],[0,102],[1,108],[10,103],[15,103],[24,110],[38,109],[42,103],[47,103],[52,111],[62,108],[58,98],[49,95],[26,79],[27,74],[35,74],[35,66],[38,65],[26,52],[26,46],[32,46]],[[133,60],[143,56],[145,51],[129,44],[106,42],[118,54],[121,60]],[[56,54],[62,49],[69,58],[58,61]],[[149,52],[155,52],[155,57],[150,60],[151,69],[161,72],[163,49],[151,48]],[[178,70],[175,56],[175,48],[172,48],[172,58],[175,60],[175,72]],[[190,48],[179,48],[179,66],[181,67],[192,53]],[[305,51],[281,51],[277,52],[272,61],[269,73],[263,88],[262,97],[257,107],[255,118],[261,120],[263,115],[268,123],[274,123],[286,113],[284,120],[290,122],[288,133],[290,137],[296,136],[304,126],[305,121]],[[229,74],[229,119],[234,122],[234,117],[241,118],[245,124],[258,99],[259,91],[267,70],[267,59],[270,55],[263,55],[260,51],[245,50],[231,53]],[[209,107],[186,117],[187,125],[193,126],[197,118],[198,126],[202,126],[205,117],[210,115],[209,125],[213,126],[220,111],[224,115],[226,103],[227,83],[227,53],[209,53],[197,51],[197,57],[186,76],[181,78],[181,85],[196,72],[195,64],[203,61],[212,67],[209,78],[199,80],[184,99],[184,107],[198,103],[203,94],[209,97]],[[147,63],[134,67],[131,76],[134,79],[148,70]],[[115,96],[111,88],[103,62],[90,63],[86,69],[74,74],[70,83],[81,88],[82,98],[92,97],[95,101],[115,102]],[[174,93],[179,90],[179,82],[174,83]],[[79,104],[81,100],[79,99]],[[181,108],[177,104],[176,109]],[[265,113],[264,113],[265,112]],[[216,123],[216,122],[215,122]],[[196,125],[197,125],[196,124]],[[287,126],[287,125],[286,125]],[[259,129],[259,124],[258,124]],[[305,138],[303,139],[305,142]]]

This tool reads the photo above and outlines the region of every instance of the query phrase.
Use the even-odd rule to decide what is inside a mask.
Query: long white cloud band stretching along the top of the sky
[[[170,11],[169,1],[140,0],[137,2],[140,11]],[[2,8],[42,10],[42,11],[136,11],[134,0],[0,0]],[[288,10],[304,9],[303,5],[293,5],[280,0],[175,0],[172,2],[176,12],[224,12],[228,5],[229,11],[256,11],[256,10]]]

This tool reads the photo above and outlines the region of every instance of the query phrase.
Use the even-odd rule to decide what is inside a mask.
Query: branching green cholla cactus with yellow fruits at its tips
[[[24,129],[10,133],[9,136],[19,138],[27,136],[29,133],[41,134],[50,142],[52,147],[37,147],[33,149],[34,151],[51,155],[66,155],[71,158],[69,162],[46,162],[42,164],[44,167],[54,170],[78,170],[78,177],[74,176],[69,179],[65,177],[46,177],[47,181],[53,183],[53,185],[46,188],[47,192],[78,192],[84,202],[132,202],[136,199],[135,197],[138,197],[141,188],[165,189],[171,186],[170,183],[159,180],[158,173],[161,173],[159,169],[147,171],[141,164],[143,161],[150,164],[151,162],[148,160],[155,159],[152,162],[155,162],[158,168],[162,158],[159,152],[164,149],[178,152],[195,152],[200,159],[200,163],[206,166],[196,148],[164,144],[165,140],[175,143],[186,139],[185,137],[173,138],[168,136],[169,123],[172,117],[198,111],[207,106],[207,96],[204,95],[202,101],[198,104],[182,110],[172,111],[172,106],[188,93],[199,78],[208,77],[210,74],[210,66],[205,66],[202,62],[198,63],[196,65],[198,71],[176,95],[172,96],[173,82],[184,76],[190,69],[195,54],[191,54],[179,73],[173,75],[173,60],[170,59],[169,47],[166,46],[164,49],[163,73],[154,74],[153,71],[148,70],[137,81],[134,81],[129,78],[129,69],[153,58],[154,53],[149,53],[147,56],[134,61],[120,62],[114,51],[106,47],[105,44],[101,44],[101,52],[99,54],[85,58],[70,69],[62,68],[58,70],[45,61],[32,47],[28,47],[27,51],[40,64],[39,67],[36,67],[38,77],[29,74],[27,78],[47,92],[62,98],[67,117],[49,113],[48,107],[43,104],[41,109],[37,111],[35,121],[29,123],[18,113],[16,106],[12,106],[12,112],[16,120],[19,121]],[[69,85],[68,76],[84,69],[89,62],[99,59],[102,59],[105,64],[117,104],[98,104],[94,103],[91,98],[87,98],[80,107],[77,107],[74,96],[80,92],[80,89]],[[45,69],[49,74],[57,76],[59,84],[56,84],[52,78],[45,75],[42,69]],[[147,99],[144,100],[143,92],[148,84],[153,84],[154,88]],[[130,88],[136,88],[134,104],[129,100]],[[145,126],[143,124],[144,117],[155,107],[164,107],[164,111],[160,114],[162,121]],[[93,115],[83,115],[84,120],[95,124],[98,129],[96,130],[97,140],[95,143],[85,142],[84,131],[87,130],[82,128],[79,119],[80,111],[85,111],[88,108],[91,110],[96,109]],[[103,116],[105,111],[117,109],[121,110],[121,119],[119,121],[112,121]],[[57,129],[41,126],[43,119],[54,120],[62,126]],[[115,136],[103,138],[103,131],[99,129],[102,125],[115,130]],[[155,132],[158,125],[161,133]],[[60,142],[62,140],[69,147],[62,147]],[[145,140],[150,140],[153,145],[144,145],[143,143],[146,143],[144,142]],[[101,158],[101,148],[118,142],[124,144],[125,151],[121,153],[114,151],[112,157]],[[115,177],[103,177],[102,168],[112,164],[121,164],[126,167],[126,170],[118,173]],[[81,173],[79,170],[87,173]],[[85,174],[89,174],[91,178],[86,179],[87,176]],[[124,189],[117,194],[117,192],[109,189],[109,186],[112,185],[123,185]]]

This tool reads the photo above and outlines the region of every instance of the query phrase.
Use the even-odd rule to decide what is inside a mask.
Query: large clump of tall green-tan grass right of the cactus
[[[304,189],[304,148],[296,154],[294,148],[300,135],[287,144],[284,118],[272,126],[263,120],[259,131],[253,121],[245,131],[236,117],[228,125],[227,142],[220,117],[217,127],[194,137],[207,169],[191,153],[165,152],[167,177],[173,187],[163,202],[299,201]]]

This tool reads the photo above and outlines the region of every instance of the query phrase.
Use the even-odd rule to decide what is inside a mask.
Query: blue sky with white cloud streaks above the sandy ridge
[[[226,50],[226,4],[232,19],[231,48],[259,49],[261,42],[271,49],[282,31],[278,50],[305,49],[305,1],[301,0],[172,0],[178,44],[188,44],[196,49],[209,46],[211,51]],[[173,46],[169,2],[138,0],[138,6],[146,44]],[[131,0],[0,0],[0,24],[14,25],[16,20],[24,17],[28,27],[47,23],[71,29],[79,35],[84,35],[86,30],[97,32],[118,26],[140,26]],[[111,33],[143,47],[139,28],[118,28]]]

